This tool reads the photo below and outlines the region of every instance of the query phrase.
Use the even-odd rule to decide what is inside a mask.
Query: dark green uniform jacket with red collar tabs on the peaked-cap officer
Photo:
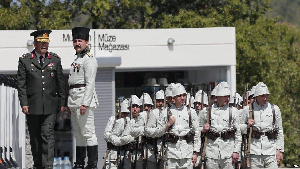
[[[21,107],[29,106],[30,115],[49,115],[66,105],[65,80],[60,57],[46,52],[41,67],[35,52],[19,58],[18,95]]]

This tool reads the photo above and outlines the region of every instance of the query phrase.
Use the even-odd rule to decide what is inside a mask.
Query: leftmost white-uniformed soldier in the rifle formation
[[[126,99],[122,101],[120,118],[127,117],[128,114],[130,113],[129,109],[127,108],[128,102],[129,101]],[[118,119],[118,117],[116,115],[111,116],[109,118],[109,120],[106,124],[105,130],[104,130],[104,134],[103,134],[103,138],[107,142],[107,148],[109,149],[109,153],[108,153],[106,164],[105,164],[107,169],[109,169],[109,168],[117,169],[117,166],[116,166],[117,146],[110,143],[110,134],[112,133],[113,127],[115,126],[117,119]]]

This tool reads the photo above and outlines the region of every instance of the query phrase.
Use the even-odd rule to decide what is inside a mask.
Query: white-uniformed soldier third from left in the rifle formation
[[[143,97],[143,95],[144,95],[144,97]],[[143,95],[140,97],[140,103],[139,103],[140,110],[142,110],[143,98],[144,98],[144,111],[150,111],[153,106],[152,99],[148,93],[144,93]],[[123,145],[129,144],[129,143],[132,144],[132,142],[134,142],[136,139],[136,142],[133,143],[134,146],[132,146],[132,149],[133,149],[132,156],[134,159],[133,165],[135,165],[136,168],[142,168],[141,138],[134,137],[134,136],[132,136],[132,133],[131,133],[131,129],[135,125],[139,113],[132,114],[132,115],[134,118],[129,120],[128,123],[126,124],[124,132],[121,136],[121,143]]]

